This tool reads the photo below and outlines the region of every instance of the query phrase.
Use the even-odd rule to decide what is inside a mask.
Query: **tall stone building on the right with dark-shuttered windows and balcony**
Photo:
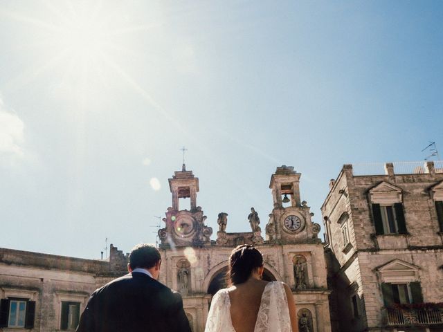
[[[380,166],[344,165],[321,208],[332,331],[443,331],[443,163]]]

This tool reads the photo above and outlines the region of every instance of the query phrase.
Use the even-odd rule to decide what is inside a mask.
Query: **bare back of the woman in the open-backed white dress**
[[[264,287],[268,282],[248,279],[228,289],[230,319],[236,332],[253,332],[257,321]]]

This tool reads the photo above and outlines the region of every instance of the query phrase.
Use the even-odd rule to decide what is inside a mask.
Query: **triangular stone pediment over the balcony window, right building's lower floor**
[[[382,282],[415,282],[418,279],[419,267],[401,259],[394,259],[376,270]]]

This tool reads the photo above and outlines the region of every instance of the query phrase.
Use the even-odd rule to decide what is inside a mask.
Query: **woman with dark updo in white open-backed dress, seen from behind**
[[[253,246],[231,252],[227,276],[233,286],[214,295],[205,332],[298,332],[291,289],[262,281],[263,270],[262,254]]]

